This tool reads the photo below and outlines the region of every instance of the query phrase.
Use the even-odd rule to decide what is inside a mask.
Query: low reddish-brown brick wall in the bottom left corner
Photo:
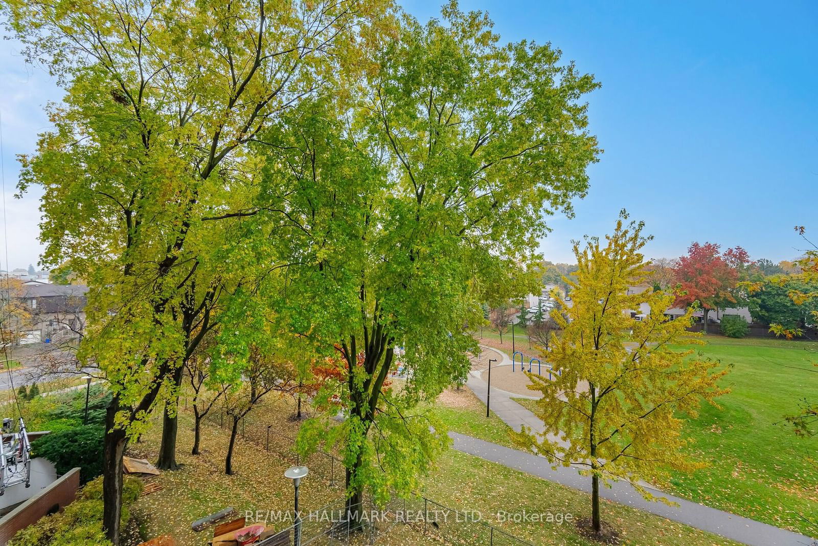
[[[6,544],[18,530],[28,527],[48,513],[65,508],[77,496],[78,489],[79,468],[72,468],[31,499],[8,512],[0,519],[0,546]]]

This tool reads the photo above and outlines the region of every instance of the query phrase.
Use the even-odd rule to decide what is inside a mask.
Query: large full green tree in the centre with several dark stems
[[[570,214],[599,153],[590,75],[550,46],[499,43],[481,13],[442,15],[403,16],[348,96],[319,93],[259,137],[254,232],[281,243],[266,262],[286,270],[279,315],[339,365],[302,446],[340,442],[353,528],[365,489],[410,493],[447,444],[417,404],[463,377],[481,302],[536,286],[545,217]]]

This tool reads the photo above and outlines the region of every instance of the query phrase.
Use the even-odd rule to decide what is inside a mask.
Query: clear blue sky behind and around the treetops
[[[402,2],[428,19],[440,3]],[[461,2],[489,12],[504,40],[559,47],[596,74],[591,131],[605,149],[576,218],[551,219],[546,259],[603,235],[618,210],[643,219],[649,257],[691,241],[792,259],[806,225],[818,236],[818,2]],[[16,153],[34,149],[60,92],[0,42],[0,115],[11,267],[36,262],[37,197],[11,199]],[[0,255],[0,267],[5,259]]]

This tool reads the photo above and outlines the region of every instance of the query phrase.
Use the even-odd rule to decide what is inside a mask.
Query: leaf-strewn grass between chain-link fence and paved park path
[[[450,430],[515,447],[510,428],[494,416],[468,389],[447,391],[434,408]],[[573,523],[498,521],[498,512],[547,513],[590,517],[591,496],[541,480],[497,463],[454,450],[438,463],[427,481],[426,496],[443,499],[448,508],[477,510],[484,521],[533,544],[598,544],[582,538]],[[634,508],[602,501],[603,518],[616,528],[622,544],[735,544],[689,526]]]

